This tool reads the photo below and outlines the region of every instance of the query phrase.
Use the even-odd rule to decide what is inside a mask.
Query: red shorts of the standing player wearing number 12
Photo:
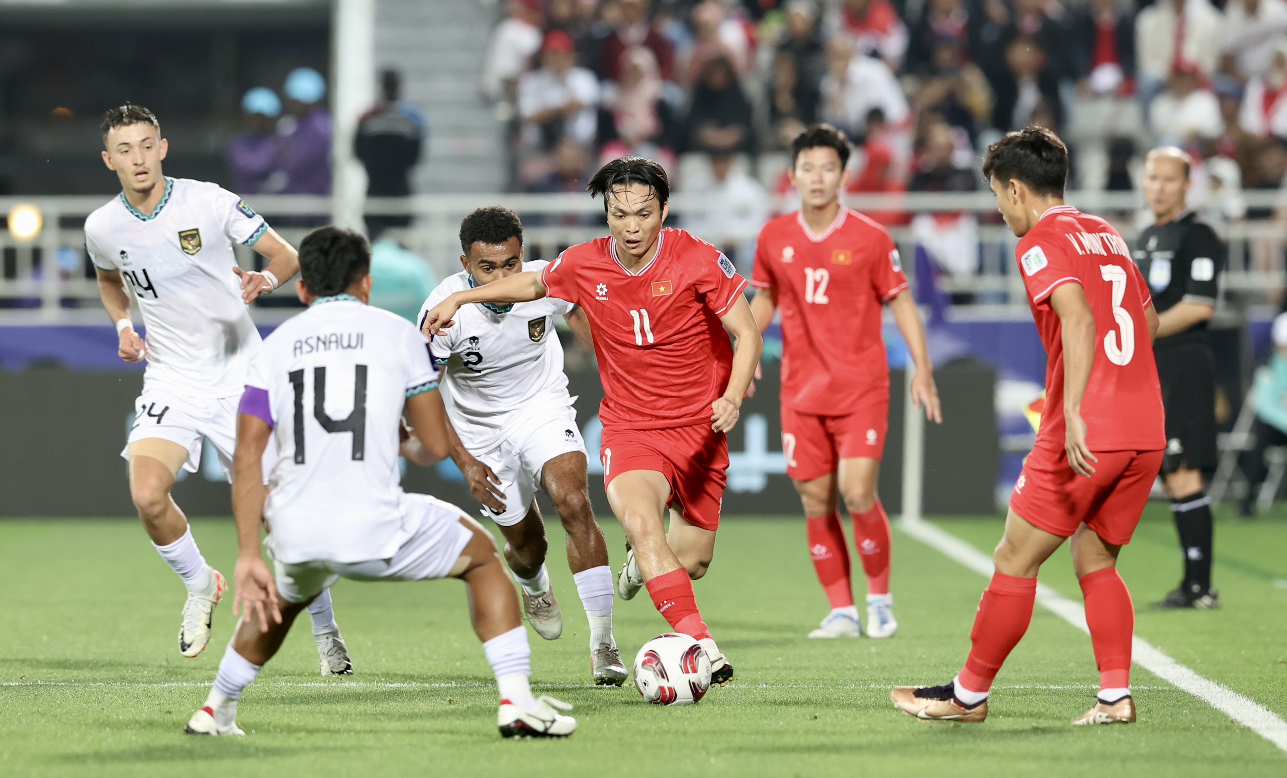
[[[844,415],[801,413],[782,405],[782,453],[786,475],[810,481],[834,473],[842,459],[884,455],[889,431],[889,390],[864,394]]]

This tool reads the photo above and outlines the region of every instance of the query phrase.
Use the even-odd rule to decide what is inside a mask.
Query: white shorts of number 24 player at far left
[[[188,462],[183,469],[196,473],[201,469],[201,439],[206,437],[219,454],[224,476],[232,482],[233,451],[237,448],[237,406],[234,397],[184,397],[165,387],[143,384],[143,394],[134,401],[134,424],[121,449],[121,457],[130,458],[130,444],[149,437],[167,440],[188,449]],[[277,446],[269,441],[264,450],[264,484],[277,462]]]

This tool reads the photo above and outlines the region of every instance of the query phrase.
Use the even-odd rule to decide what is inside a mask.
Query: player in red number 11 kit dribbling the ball
[[[714,553],[725,435],[763,345],[743,296],[746,280],[716,247],[663,229],[671,185],[656,162],[614,159],[587,189],[604,198],[609,237],[573,246],[541,273],[456,292],[426,312],[423,327],[430,334],[450,327],[462,305],[547,294],[584,309],[604,382],[604,481],[627,539],[618,593],[631,599],[646,585],[671,628],[701,643],[710,682],[722,685],[732,665],[698,611],[692,580]]]

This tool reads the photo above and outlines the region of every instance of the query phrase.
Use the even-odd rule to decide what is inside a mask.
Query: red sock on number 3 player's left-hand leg
[[[992,679],[1005,664],[1005,657],[1028,631],[1036,599],[1036,579],[992,574],[992,583],[978,603],[974,629],[969,633],[973,647],[959,676],[963,687],[970,692],[992,688]]]

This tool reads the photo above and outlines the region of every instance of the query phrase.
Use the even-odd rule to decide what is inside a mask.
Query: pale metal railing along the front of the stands
[[[32,240],[18,240],[0,231],[0,309],[5,319],[58,320],[77,307],[97,307],[98,287],[85,256],[85,217],[107,202],[107,197],[0,197],[0,215],[18,204],[31,204],[44,216],[44,229]],[[1108,217],[1126,237],[1138,234],[1142,198],[1136,193],[1073,192],[1068,202],[1091,213]],[[1259,210],[1260,219],[1229,220],[1215,225],[1229,246],[1229,265],[1221,283],[1221,305],[1277,303],[1287,287],[1287,221],[1274,216],[1287,211],[1282,192],[1247,192],[1246,204]],[[263,213],[287,240],[297,244],[313,228],[297,226],[306,217],[313,224],[326,222],[332,203],[326,197],[275,195],[256,197],[251,204]],[[606,233],[602,203],[584,194],[462,194],[413,195],[404,199],[371,198],[364,212],[373,215],[408,215],[412,225],[395,230],[399,240],[429,261],[441,278],[458,269],[458,226],[461,219],[481,206],[503,204],[524,219],[528,256],[553,258],[566,246],[591,240]],[[785,202],[773,203],[786,207]],[[978,193],[909,193],[897,195],[851,195],[847,204],[860,211],[882,213],[967,213],[978,221],[979,262],[974,273],[938,274],[940,288],[954,296],[954,310],[960,315],[1018,315],[1026,310],[1023,282],[1014,267],[1013,248],[1017,239],[996,216],[996,204],[987,192]],[[671,202],[672,222],[683,226],[695,216],[718,213],[718,203],[677,194]],[[910,271],[914,256],[914,230],[906,219],[891,228]],[[758,229],[758,228],[757,228]],[[739,233],[717,229],[700,237],[717,246],[754,244],[755,230]],[[238,247],[238,261],[255,266],[257,257]],[[740,262],[749,271],[749,252]],[[26,312],[17,314],[17,310]]]

